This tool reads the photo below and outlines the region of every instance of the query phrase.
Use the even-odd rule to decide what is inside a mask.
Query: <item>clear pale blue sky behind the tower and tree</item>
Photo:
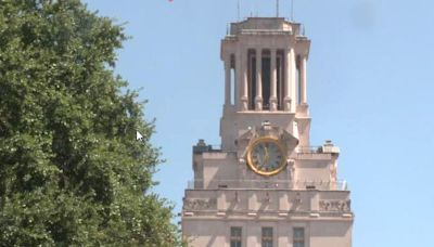
[[[434,1],[294,0],[312,43],[311,143],[341,147],[352,190],[354,247],[432,247],[434,216]],[[167,160],[155,192],[180,211],[197,139],[219,144],[220,40],[237,0],[87,0],[132,36],[116,72],[143,88],[152,141]],[[281,0],[290,16],[290,1]],[[241,16],[273,16],[272,0],[241,0]]]

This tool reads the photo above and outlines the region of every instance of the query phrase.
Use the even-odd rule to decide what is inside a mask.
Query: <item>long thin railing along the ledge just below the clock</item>
[[[319,190],[347,191],[346,181],[285,181],[285,180],[192,180],[188,188],[276,188],[276,190]]]

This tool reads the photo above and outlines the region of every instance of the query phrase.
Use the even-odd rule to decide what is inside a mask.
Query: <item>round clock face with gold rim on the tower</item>
[[[247,148],[247,165],[261,176],[273,176],[286,166],[283,145],[271,136],[255,140]]]

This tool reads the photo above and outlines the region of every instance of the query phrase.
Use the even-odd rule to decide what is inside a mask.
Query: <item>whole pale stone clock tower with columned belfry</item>
[[[340,148],[311,146],[310,40],[281,17],[232,23],[221,41],[221,146],[193,146],[182,235],[194,247],[350,247]]]

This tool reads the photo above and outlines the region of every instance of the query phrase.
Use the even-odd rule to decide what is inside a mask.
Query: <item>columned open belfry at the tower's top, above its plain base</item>
[[[295,113],[297,105],[307,104],[309,47],[301,24],[282,17],[250,17],[232,23],[221,43],[227,69],[225,105],[233,102],[238,112]],[[231,88],[235,91],[232,100]]]

